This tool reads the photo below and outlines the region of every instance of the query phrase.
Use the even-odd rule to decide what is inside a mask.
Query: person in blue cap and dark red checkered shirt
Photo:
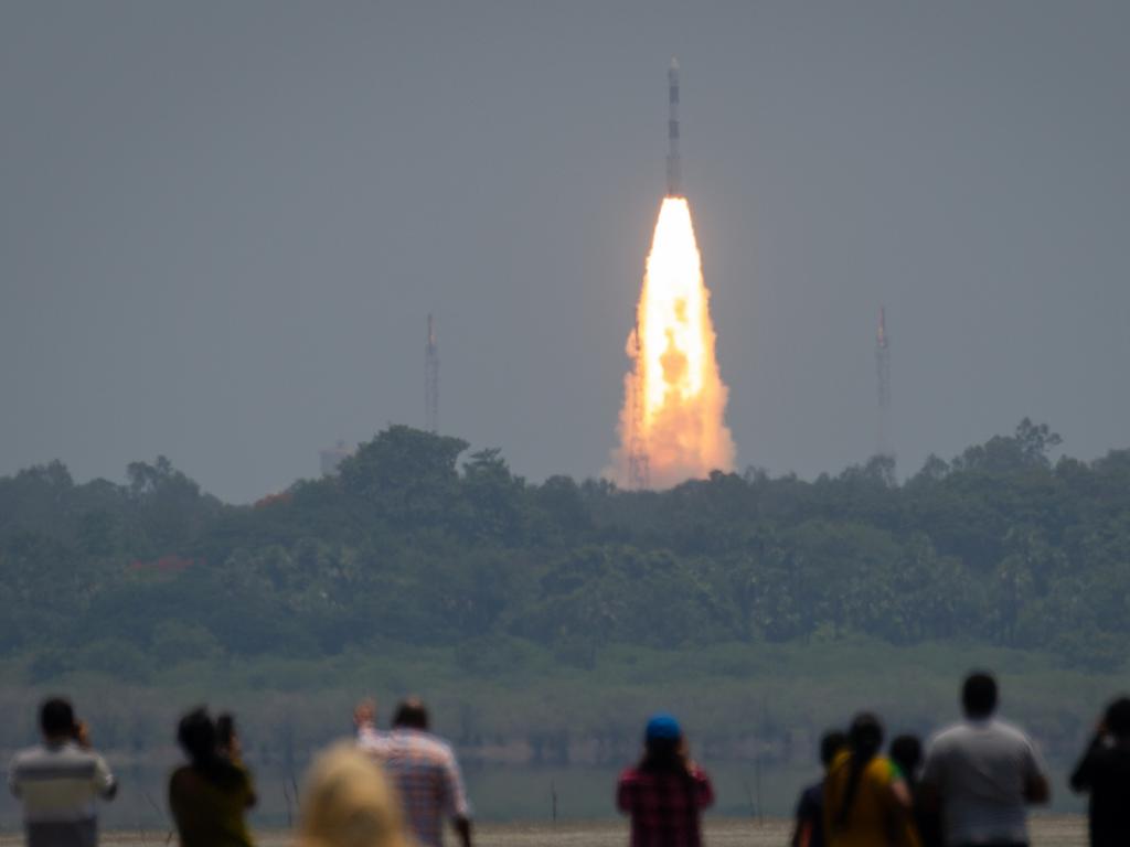
[[[632,817],[632,847],[699,847],[702,811],[713,803],[710,777],[692,761],[679,723],[652,717],[643,758],[616,789],[617,806]]]

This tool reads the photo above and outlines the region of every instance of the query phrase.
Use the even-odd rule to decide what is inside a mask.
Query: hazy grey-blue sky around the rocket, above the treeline
[[[599,473],[667,67],[739,468],[1130,446],[1130,3],[0,5],[0,473],[250,500],[424,417]]]

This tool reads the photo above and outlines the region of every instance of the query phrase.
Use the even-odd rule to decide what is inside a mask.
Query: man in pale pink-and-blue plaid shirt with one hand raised
[[[443,847],[446,819],[461,847],[471,847],[471,807],[459,762],[451,745],[428,732],[427,708],[416,698],[405,700],[388,733],[376,730],[375,717],[372,701],[354,711],[357,745],[384,766],[416,840],[424,847]]]

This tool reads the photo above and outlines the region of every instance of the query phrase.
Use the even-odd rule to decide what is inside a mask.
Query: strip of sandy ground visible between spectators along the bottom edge
[[[789,822],[767,820],[707,820],[705,840],[710,847],[784,847],[789,842]],[[268,830],[255,833],[259,847],[292,844],[290,832]],[[104,832],[103,847],[166,847],[165,832]],[[623,821],[597,823],[485,823],[476,828],[480,847],[626,847],[627,827]],[[0,847],[23,844],[18,836],[0,836]],[[175,839],[173,840],[175,845]],[[449,845],[454,839],[449,839]],[[1032,847],[1086,847],[1087,821],[1078,815],[1036,818],[1032,824]]]

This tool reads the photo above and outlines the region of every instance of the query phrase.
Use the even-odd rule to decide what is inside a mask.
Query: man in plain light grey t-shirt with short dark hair
[[[1019,728],[996,718],[997,681],[970,674],[965,721],[931,739],[923,802],[940,807],[947,847],[1026,847],[1027,806],[1051,800],[1048,770]]]

